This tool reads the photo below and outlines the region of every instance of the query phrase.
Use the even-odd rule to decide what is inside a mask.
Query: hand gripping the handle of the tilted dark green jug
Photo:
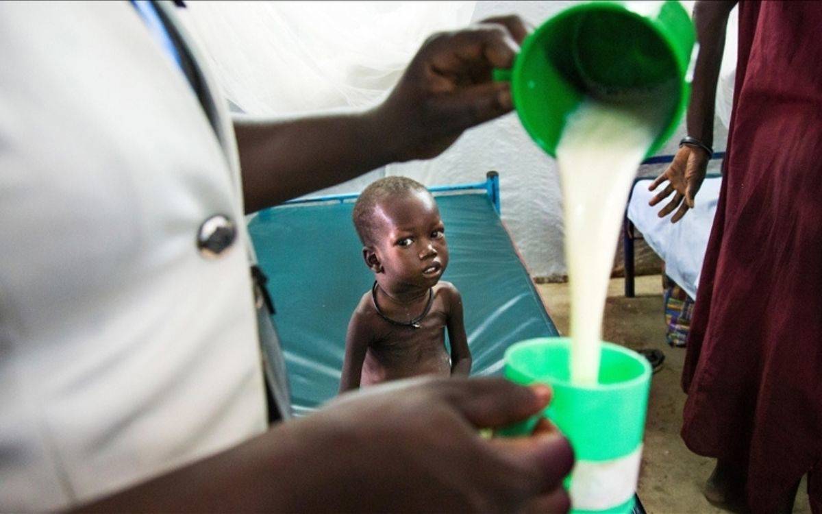
[[[513,109],[510,85],[492,81],[492,70],[511,66],[528,32],[519,16],[506,16],[427,39],[377,109],[398,145],[394,160],[439,155],[465,129]]]

